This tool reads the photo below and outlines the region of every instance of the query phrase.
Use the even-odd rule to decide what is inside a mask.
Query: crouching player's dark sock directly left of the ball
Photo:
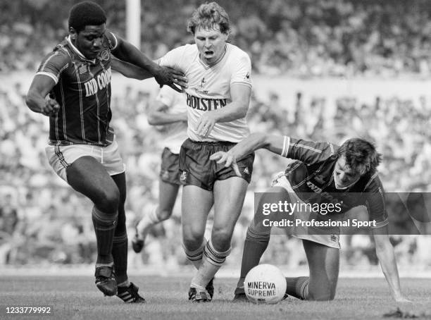
[[[244,241],[244,250],[242,252],[241,275],[237,288],[244,288],[244,279],[249,271],[259,264],[263,252],[268,247],[270,233],[258,233],[251,228],[247,229],[246,239]]]

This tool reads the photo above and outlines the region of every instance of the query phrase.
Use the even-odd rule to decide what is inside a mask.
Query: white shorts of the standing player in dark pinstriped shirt
[[[51,167],[65,182],[68,182],[66,168],[82,156],[92,156],[104,166],[110,176],[115,176],[125,171],[125,164],[120,152],[118,152],[118,144],[115,138],[107,147],[91,144],[48,145],[45,148],[45,153]]]

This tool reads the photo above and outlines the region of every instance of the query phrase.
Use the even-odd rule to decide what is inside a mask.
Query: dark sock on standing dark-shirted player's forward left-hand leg
[[[107,214],[93,207],[92,220],[97,242],[96,264],[109,264],[113,261],[111,252],[117,212]]]

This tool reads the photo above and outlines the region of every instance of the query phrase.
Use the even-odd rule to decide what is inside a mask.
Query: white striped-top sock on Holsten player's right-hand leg
[[[220,266],[225,262],[226,257],[230,254],[232,248],[225,252],[219,252],[214,249],[213,242],[208,240],[204,248],[204,259],[196,275],[192,279],[190,286],[194,288],[205,288],[206,285],[214,278]]]

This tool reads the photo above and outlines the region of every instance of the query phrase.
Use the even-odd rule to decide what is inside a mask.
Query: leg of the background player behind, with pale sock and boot
[[[170,218],[179,188],[179,185],[166,183],[161,179],[158,180],[158,206],[144,214],[141,221],[137,224],[137,233],[132,240],[132,247],[135,252],[138,253],[142,251],[146,235],[148,235],[152,227]]]

